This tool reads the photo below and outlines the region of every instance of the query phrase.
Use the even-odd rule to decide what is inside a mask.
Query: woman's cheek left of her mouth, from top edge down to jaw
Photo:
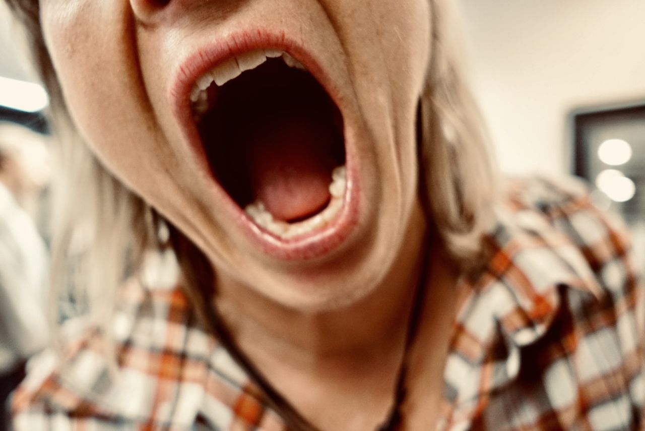
[[[141,81],[130,3],[44,0],[46,44],[75,128],[99,161],[184,232],[203,243],[198,181],[159,129]],[[186,150],[187,152],[188,150]],[[170,173],[170,174],[169,174]],[[196,227],[197,226],[197,227]],[[198,233],[195,233],[198,232]]]

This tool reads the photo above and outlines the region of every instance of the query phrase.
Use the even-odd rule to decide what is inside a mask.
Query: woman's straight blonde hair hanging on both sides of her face
[[[119,183],[75,132],[43,41],[38,2],[6,1],[27,30],[35,65],[50,93],[50,117],[59,143],[59,177],[53,197],[52,285],[60,288],[65,283],[70,254],[81,256],[81,293],[86,295],[97,321],[106,323],[108,316],[97,312],[110,312],[104,304],[113,301],[124,276],[141,268],[146,250],[168,246],[157,235],[161,217]],[[452,2],[430,2],[433,52],[419,105],[419,188],[430,225],[455,262],[467,269],[478,261],[482,234],[491,221],[495,175],[487,134],[462,78],[460,55],[450,34],[455,28]],[[175,237],[171,246],[184,272],[199,274],[201,269],[194,267],[195,259],[188,255],[201,257],[201,262],[205,257],[181,232],[169,227]],[[86,233],[80,248],[75,238],[79,232]],[[192,279],[194,285],[187,293],[199,313],[204,304],[197,292],[197,280]]]

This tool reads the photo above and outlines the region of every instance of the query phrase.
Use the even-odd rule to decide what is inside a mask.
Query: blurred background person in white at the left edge
[[[48,341],[48,257],[32,218],[48,179],[46,152],[42,135],[0,123],[0,430],[27,359]]]

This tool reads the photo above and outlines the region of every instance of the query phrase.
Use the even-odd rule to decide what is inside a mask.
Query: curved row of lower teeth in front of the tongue
[[[323,228],[338,214],[342,206],[342,198],[347,185],[345,166],[339,166],[333,170],[330,194],[332,198],[326,208],[304,221],[298,223],[286,223],[285,221],[274,220],[270,212],[264,208],[261,201],[255,201],[244,208],[256,225],[268,230],[273,235],[283,239],[290,239],[301,236],[315,229]]]

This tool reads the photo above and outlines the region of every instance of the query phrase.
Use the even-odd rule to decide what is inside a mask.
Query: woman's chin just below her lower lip
[[[218,284],[224,281],[228,286],[243,286],[246,292],[272,304],[308,314],[350,308],[384,285],[405,243],[404,232],[399,234],[378,224],[372,227],[370,234],[348,240],[325,259],[275,265],[266,258],[239,256],[241,265],[223,263],[219,270],[215,265]],[[217,263],[216,258],[212,260]]]

